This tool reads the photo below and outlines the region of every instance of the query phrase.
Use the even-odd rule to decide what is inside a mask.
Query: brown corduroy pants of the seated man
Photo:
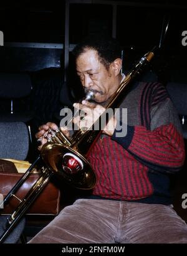
[[[187,243],[187,225],[171,206],[79,199],[29,243]]]

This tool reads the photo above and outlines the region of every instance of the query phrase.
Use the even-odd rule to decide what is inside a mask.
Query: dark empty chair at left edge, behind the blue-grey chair
[[[29,121],[32,120],[34,114],[28,110],[27,103],[27,97],[31,94],[31,90],[29,74],[0,73],[0,120],[2,122],[22,121],[27,123],[32,141]]]

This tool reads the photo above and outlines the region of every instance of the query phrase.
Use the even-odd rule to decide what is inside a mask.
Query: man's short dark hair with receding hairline
[[[72,53],[77,59],[80,54],[85,53],[87,49],[93,49],[97,51],[98,58],[100,62],[109,68],[110,63],[112,63],[117,58],[122,58],[122,48],[118,41],[113,38],[101,36],[89,36],[82,40],[77,46],[75,46]]]

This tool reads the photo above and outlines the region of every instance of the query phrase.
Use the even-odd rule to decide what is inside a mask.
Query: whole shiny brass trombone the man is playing
[[[125,96],[125,93],[127,93],[127,84],[129,84],[132,79],[141,73],[141,70],[147,63],[151,61],[153,56],[153,51],[150,51],[146,53],[140,59],[140,61],[138,61],[138,63],[133,67],[132,71],[130,71],[130,73],[128,73],[125,79],[122,81],[115,95],[113,95],[110,101],[107,103],[107,106],[105,106],[106,110],[108,108],[114,109],[120,104]],[[93,93],[90,91],[86,99],[90,100],[92,98]],[[21,200],[16,210],[14,210],[12,215],[7,218],[7,230],[0,237],[1,243],[4,241],[7,235],[9,235],[12,228],[15,227],[16,223],[19,222],[21,217],[27,211],[27,208],[29,208],[31,203],[34,202],[39,193],[41,193],[42,189],[45,187],[47,182],[49,182],[50,177],[53,174],[64,178],[76,188],[90,190],[95,186],[95,173],[87,161],[86,155],[93,146],[93,143],[97,140],[100,133],[102,133],[104,127],[100,127],[100,130],[94,130],[93,126],[97,124],[99,125],[101,123],[100,121],[102,116],[104,115],[105,111],[89,129],[79,129],[70,138],[67,138],[67,136],[60,131],[60,129],[56,131],[49,131],[49,135],[47,135],[48,142],[42,146],[41,156],[37,158],[21,180],[19,180],[19,182],[17,182],[17,184],[8,193],[4,199],[4,202],[2,202],[5,205],[9,198],[15,197],[14,194],[16,191],[21,187],[28,175],[32,172],[37,162],[41,161],[42,159],[44,162],[44,166],[42,167],[42,175],[39,180],[37,180],[36,184],[33,185],[31,190],[29,190],[26,198]],[[109,119],[110,117],[108,120]]]

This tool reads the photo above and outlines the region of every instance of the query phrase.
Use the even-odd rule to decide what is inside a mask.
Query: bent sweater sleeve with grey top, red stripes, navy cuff
[[[145,126],[128,126],[127,135],[117,141],[138,161],[158,172],[176,172],[183,166],[185,146],[178,114],[167,98],[151,109],[150,130]]]

